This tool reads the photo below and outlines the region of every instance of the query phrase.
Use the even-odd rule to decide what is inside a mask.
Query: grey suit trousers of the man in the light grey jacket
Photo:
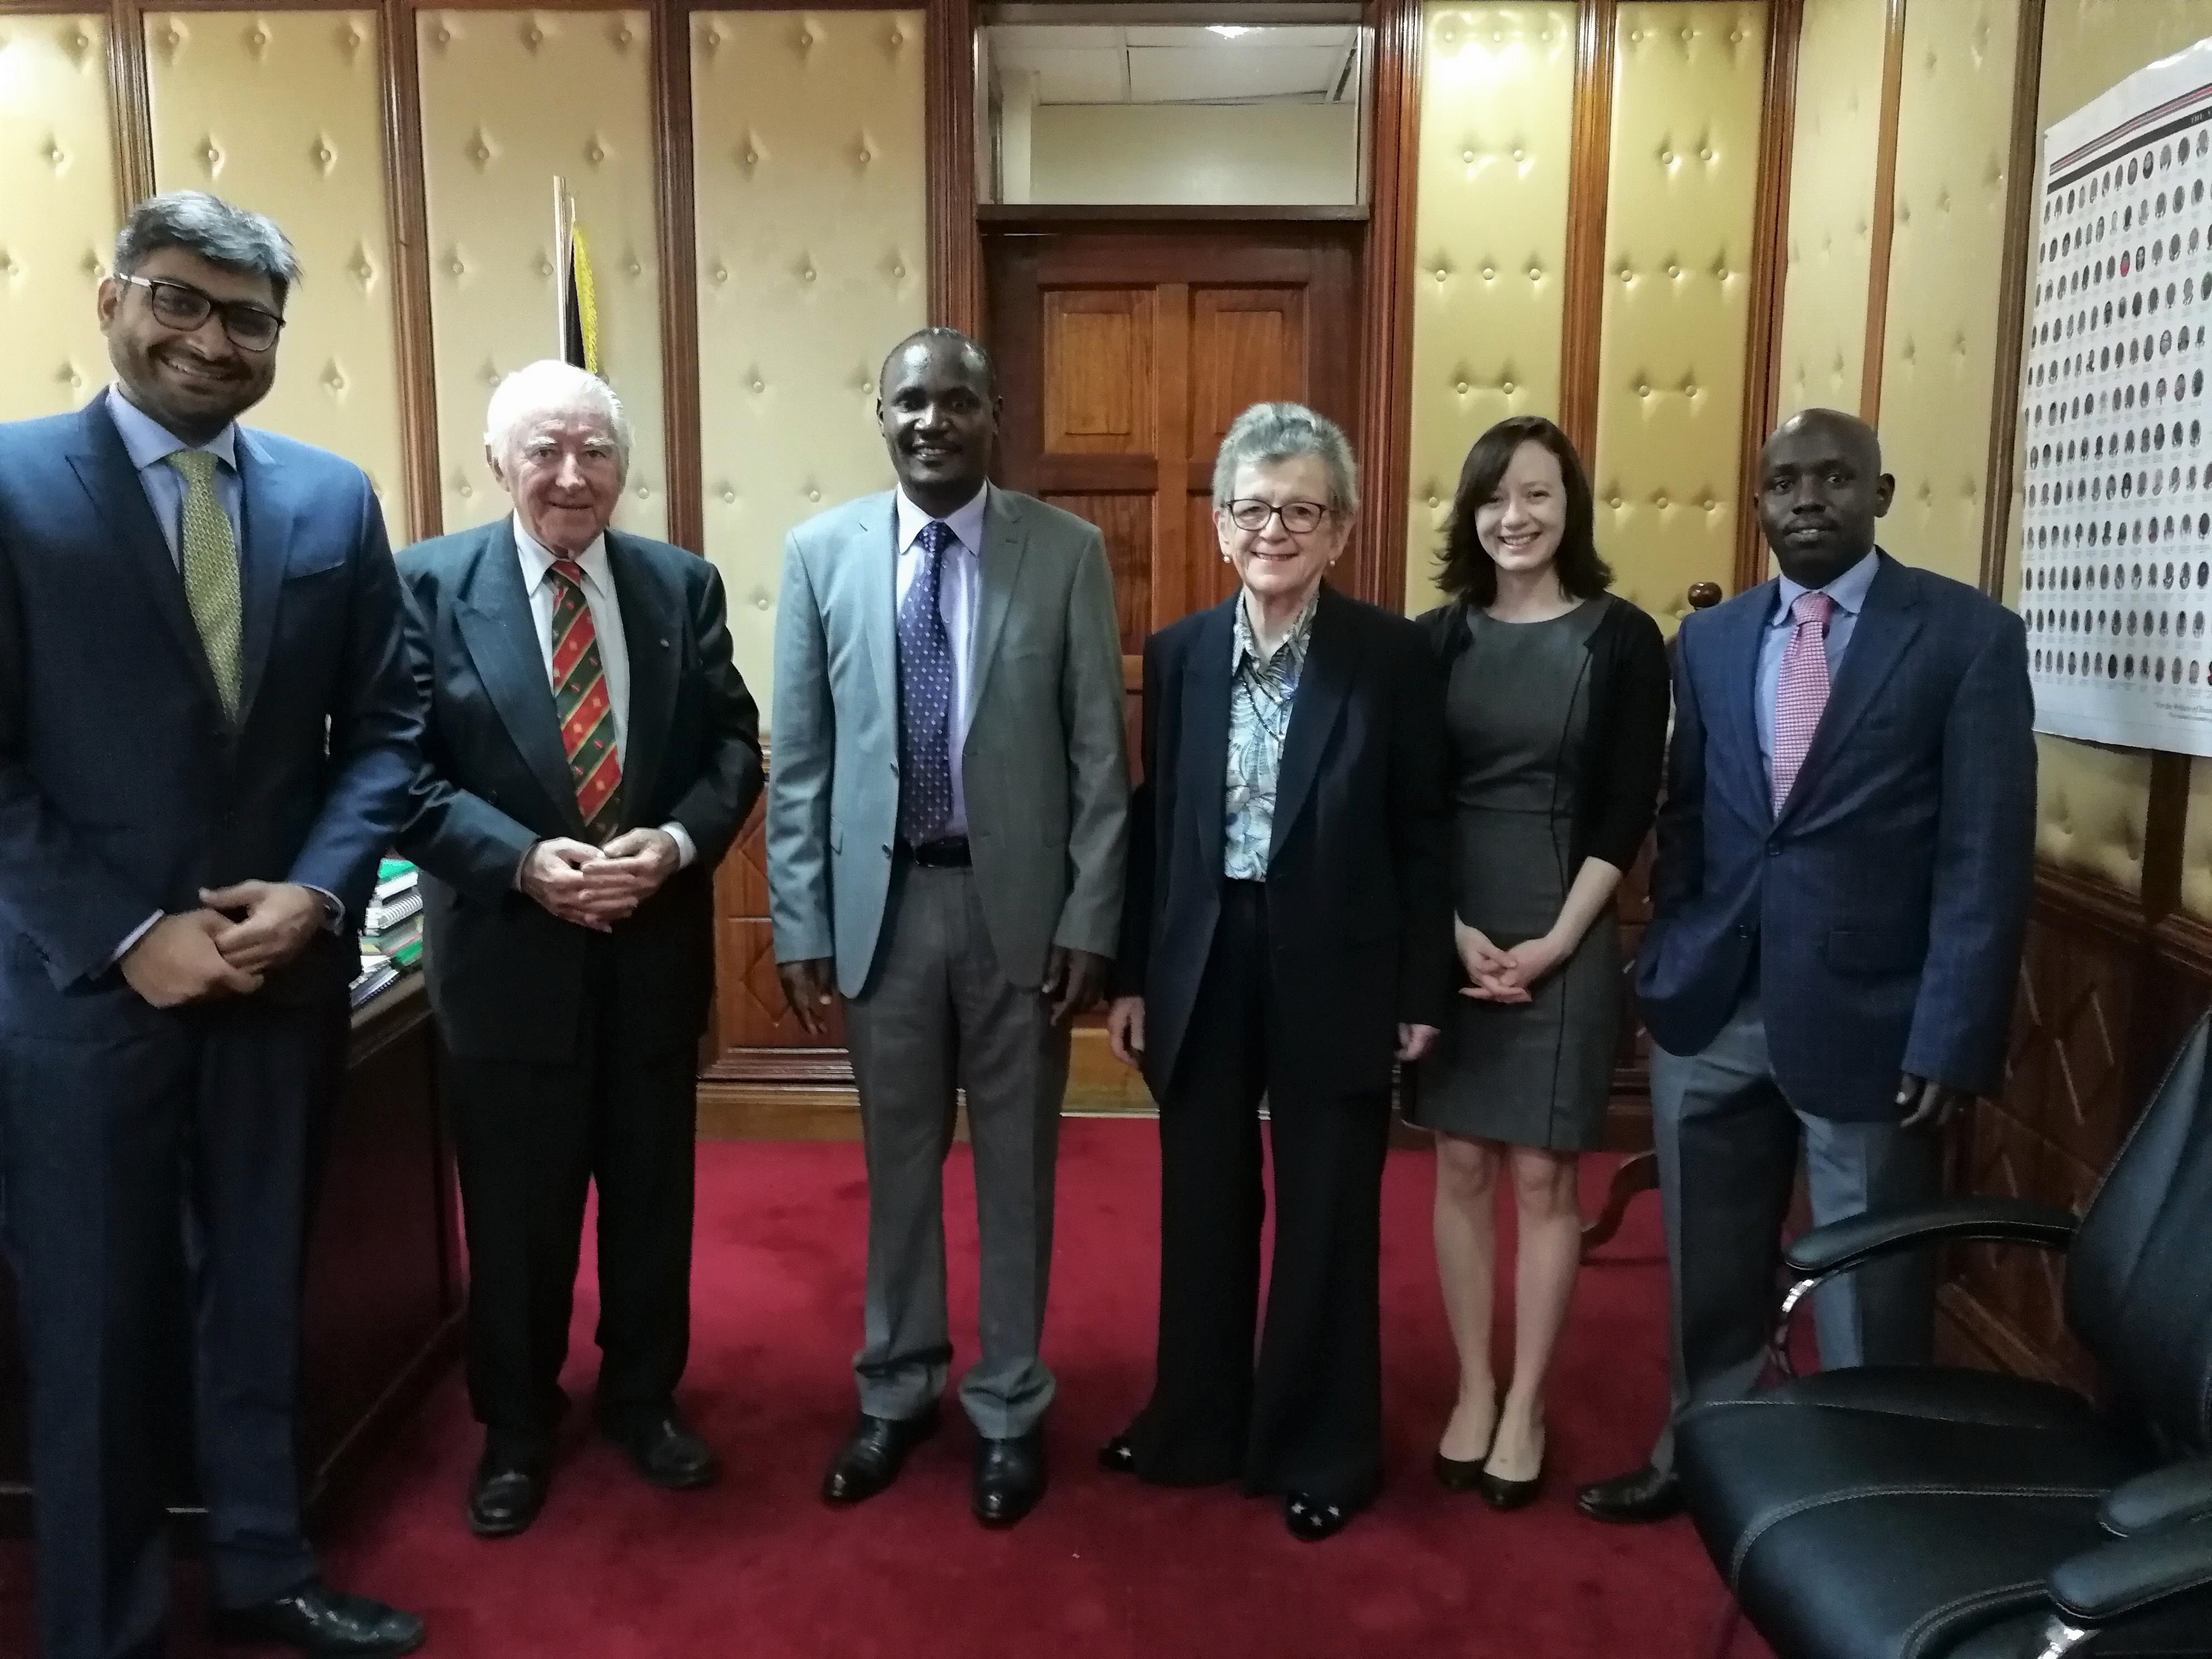
[[[1053,1161],[1068,1033],[1037,987],[1006,980],[971,869],[900,863],[867,989],[845,1004],[867,1150],[867,1329],[860,1409],[914,1418],[945,1389],[945,1155],[967,1091],[982,1243],[982,1354],[960,1405],[991,1440],[1053,1400],[1037,1358],[1053,1263]]]

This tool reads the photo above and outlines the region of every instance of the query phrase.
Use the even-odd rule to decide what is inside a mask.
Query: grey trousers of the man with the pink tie
[[[1750,1394],[1774,1327],[1781,1230],[1798,1139],[1814,1225],[1938,1197],[1936,1135],[1896,1124],[1838,1124],[1790,1106],[1767,1057],[1767,1022],[1747,993],[1697,1055],[1652,1046],[1652,1139],[1666,1206],[1672,1292],[1668,1425],[1652,1467],[1674,1462],[1688,1405]],[[1820,1365],[1927,1365],[1936,1336],[1936,1261],[1891,1256],[1814,1292]]]

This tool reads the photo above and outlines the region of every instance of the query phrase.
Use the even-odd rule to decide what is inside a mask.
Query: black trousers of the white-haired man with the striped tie
[[[449,1057],[469,1241],[469,1402],[515,1455],[546,1455],[599,1188],[599,1420],[666,1411],[690,1349],[697,1137],[692,1044],[650,1048],[613,1018],[615,953],[593,942],[566,1062]]]

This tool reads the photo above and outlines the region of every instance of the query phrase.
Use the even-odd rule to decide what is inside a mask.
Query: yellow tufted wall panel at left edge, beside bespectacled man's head
[[[0,15],[0,420],[106,385],[93,299],[117,223],[106,15]]]

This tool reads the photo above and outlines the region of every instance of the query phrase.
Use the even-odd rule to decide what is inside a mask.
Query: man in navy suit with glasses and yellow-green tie
[[[208,195],[100,283],[115,385],[0,425],[0,1194],[46,1659],[159,1652],[188,1283],[219,1637],[409,1652],[301,1533],[307,1157],[418,719],[358,467],[248,431],[299,268]]]

